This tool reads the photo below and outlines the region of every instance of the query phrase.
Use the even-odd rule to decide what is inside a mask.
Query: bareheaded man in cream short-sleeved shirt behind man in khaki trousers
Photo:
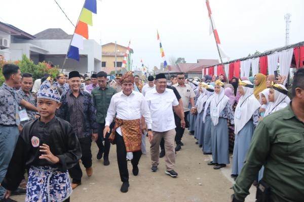
[[[191,106],[195,106],[195,104],[194,104],[195,93],[194,93],[192,87],[189,84],[185,83],[184,73],[177,74],[177,83],[174,84],[173,86],[177,89],[178,93],[181,96],[181,100],[182,100],[182,104],[183,104],[184,119],[186,122],[187,115],[190,111],[189,103],[191,103]],[[194,113],[194,107],[191,108],[191,113]],[[175,123],[175,125],[176,125],[175,150],[179,151],[181,149],[181,146],[183,145],[183,143],[181,142],[181,138],[182,138],[182,135],[183,135],[185,129],[180,127],[180,119],[178,118],[178,116],[176,114],[174,114],[174,118],[176,121],[176,123]],[[187,124],[186,124],[186,127],[188,127]]]

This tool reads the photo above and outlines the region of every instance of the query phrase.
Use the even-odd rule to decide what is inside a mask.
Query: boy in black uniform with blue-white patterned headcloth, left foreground
[[[26,201],[69,201],[72,192],[67,169],[81,158],[81,147],[71,125],[55,116],[58,86],[48,80],[37,93],[40,119],[26,123],[19,135],[8,172],[1,183],[5,198],[15,190],[29,167]]]

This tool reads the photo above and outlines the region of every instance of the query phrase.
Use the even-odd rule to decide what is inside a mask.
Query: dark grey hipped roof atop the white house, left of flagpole
[[[34,35],[35,39],[71,39],[73,35],[67,34],[60,28],[50,28]]]

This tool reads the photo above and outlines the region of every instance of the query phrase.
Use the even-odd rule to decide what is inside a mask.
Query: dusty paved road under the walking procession
[[[121,181],[116,158],[116,146],[111,145],[110,165],[103,166],[103,161],[96,160],[97,146],[93,150],[93,176],[84,176],[82,185],[73,190],[71,201],[168,201],[168,202],[212,202],[230,201],[233,193],[230,189],[233,180],[230,178],[231,165],[220,170],[207,166],[211,156],[202,154],[195,144],[192,135],[185,132],[184,146],[176,156],[177,178],[165,174],[164,158],[160,160],[159,171],[150,171],[149,142],[146,140],[147,154],[142,155],[139,163],[139,175],[133,176],[132,165],[129,163],[130,187],[127,193],[120,192]],[[255,189],[246,200],[254,202]],[[13,196],[18,201],[24,201],[24,196]]]

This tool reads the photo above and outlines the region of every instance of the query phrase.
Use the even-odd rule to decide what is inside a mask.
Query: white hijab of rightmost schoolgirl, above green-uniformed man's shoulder
[[[282,85],[282,84],[279,84],[279,85],[283,89],[287,90],[284,85]],[[270,115],[271,113],[274,113],[278,110],[281,110],[281,109],[287,107],[288,104],[290,103],[290,99],[286,94],[276,90],[275,88],[274,88],[274,90],[275,90],[275,101],[274,102],[269,102],[269,105],[265,110],[264,117]]]

